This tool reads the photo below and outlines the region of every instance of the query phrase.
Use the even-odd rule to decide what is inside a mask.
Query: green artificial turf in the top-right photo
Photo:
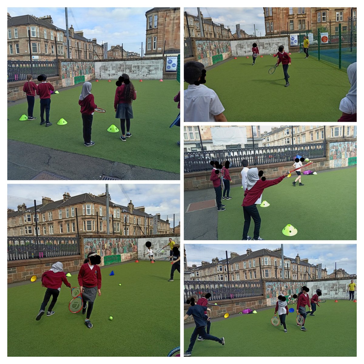
[[[350,88],[346,72],[314,57],[304,59],[304,54],[290,57],[289,87],[284,87],[281,65],[268,74],[277,61],[269,55],[258,57],[255,66],[249,56],[207,68],[205,86],[219,96],[228,122],[334,122],[340,118],[339,104]]]

